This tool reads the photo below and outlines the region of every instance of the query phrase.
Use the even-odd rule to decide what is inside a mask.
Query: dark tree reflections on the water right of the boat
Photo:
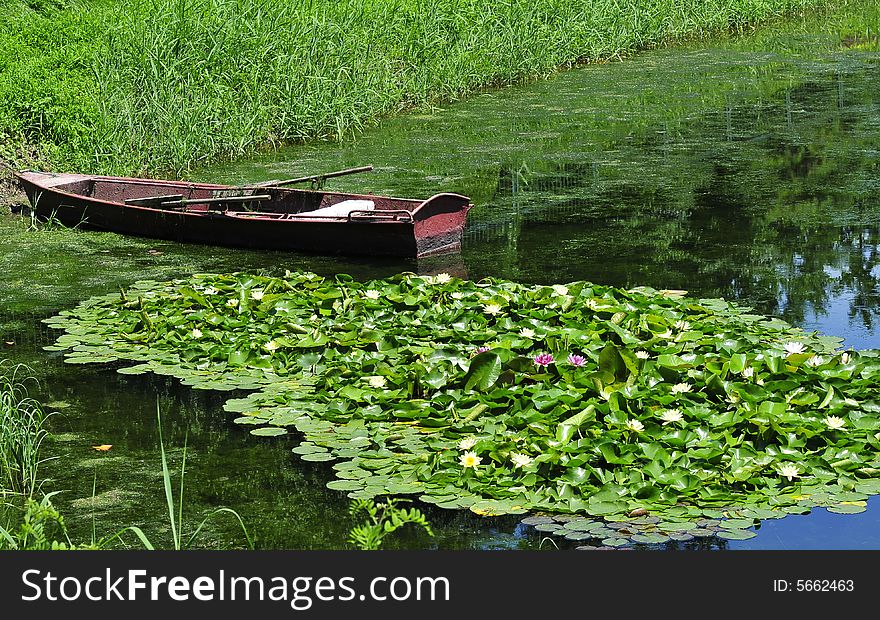
[[[794,322],[845,297],[850,319],[871,329],[877,86],[867,71],[805,76],[775,101],[728,101],[672,137],[642,122],[576,161],[503,166],[491,215],[469,234],[487,273],[675,286]]]

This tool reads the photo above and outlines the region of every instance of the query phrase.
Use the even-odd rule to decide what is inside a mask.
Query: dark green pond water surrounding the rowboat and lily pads
[[[241,183],[373,164],[372,173],[328,186],[471,196],[476,207],[461,256],[373,261],[159,242],[144,247],[178,260],[166,275],[309,269],[366,278],[448,271],[472,279],[686,289],[839,336],[847,347],[880,348],[880,11],[868,4],[856,9],[579,68],[391,119],[343,146],[292,147],[195,175]],[[113,269],[114,252],[125,248],[107,250],[96,267],[104,277],[77,272],[56,283],[63,298],[73,303],[137,279],[136,267]],[[91,536],[94,517],[99,536],[139,525],[168,539],[158,403],[173,463],[188,445],[191,524],[228,506],[241,513],[260,547],[344,546],[347,498],[325,488],[329,466],[291,454],[296,438],[248,435],[222,412],[228,395],[163,377],[65,366],[40,351],[53,333],[35,326],[64,304],[31,313],[19,306],[15,316],[9,307],[0,305],[7,314],[4,339],[16,345],[3,355],[35,365],[39,396],[59,411],[47,444],[55,457],[45,466],[47,488],[63,489],[56,504],[75,537]],[[113,448],[96,453],[90,446],[97,444]],[[392,547],[563,545],[543,540],[517,517],[426,510],[437,536],[404,535]],[[878,526],[880,501],[873,498],[862,514],[817,509],[765,522],[748,541],[701,544],[880,549]],[[235,528],[218,520],[202,544],[240,544]]]

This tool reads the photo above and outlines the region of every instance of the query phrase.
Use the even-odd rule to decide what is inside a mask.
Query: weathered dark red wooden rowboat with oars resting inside
[[[427,200],[83,174],[16,174],[38,218],[188,243],[316,254],[458,252],[470,199]]]

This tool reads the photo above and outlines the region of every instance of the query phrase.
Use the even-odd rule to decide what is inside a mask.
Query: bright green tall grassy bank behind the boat
[[[0,0],[0,161],[181,175],[826,4]]]

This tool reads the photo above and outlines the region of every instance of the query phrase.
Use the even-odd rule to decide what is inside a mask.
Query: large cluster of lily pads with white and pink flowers
[[[201,274],[48,322],[68,362],[250,390],[227,401],[236,421],[297,431],[294,452],[333,461],[328,486],[351,497],[548,513],[536,525],[649,544],[747,537],[759,519],[859,512],[880,493],[878,352],[725,300]]]

